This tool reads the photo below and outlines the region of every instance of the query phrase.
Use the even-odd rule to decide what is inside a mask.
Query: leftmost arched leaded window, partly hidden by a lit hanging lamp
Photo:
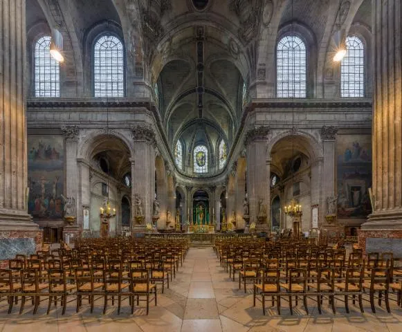
[[[51,57],[51,37],[35,44],[35,97],[60,97],[60,66]]]

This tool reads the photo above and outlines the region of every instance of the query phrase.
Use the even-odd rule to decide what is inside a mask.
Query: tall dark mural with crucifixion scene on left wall
[[[34,221],[62,220],[63,171],[63,137],[28,135],[28,213]]]

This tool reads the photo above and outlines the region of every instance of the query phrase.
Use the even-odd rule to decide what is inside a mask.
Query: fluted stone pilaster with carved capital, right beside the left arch
[[[131,200],[133,203],[133,218],[136,212],[136,197],[138,194],[143,203],[145,223],[152,223],[152,212],[155,196],[155,148],[154,129],[149,124],[139,124],[131,127],[134,140],[134,160],[131,160]],[[132,163],[134,161],[134,163]],[[134,225],[135,220],[133,221]],[[139,227],[137,227],[140,230]]]

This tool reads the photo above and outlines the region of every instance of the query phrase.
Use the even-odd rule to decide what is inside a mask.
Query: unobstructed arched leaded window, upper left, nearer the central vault
[[[100,37],[93,48],[93,86],[95,97],[125,95],[123,46],[115,36]]]

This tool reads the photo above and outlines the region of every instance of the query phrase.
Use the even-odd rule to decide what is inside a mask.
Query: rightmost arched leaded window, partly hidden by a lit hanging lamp
[[[340,95],[364,97],[364,45],[356,36],[347,37],[347,53],[340,62]]]

